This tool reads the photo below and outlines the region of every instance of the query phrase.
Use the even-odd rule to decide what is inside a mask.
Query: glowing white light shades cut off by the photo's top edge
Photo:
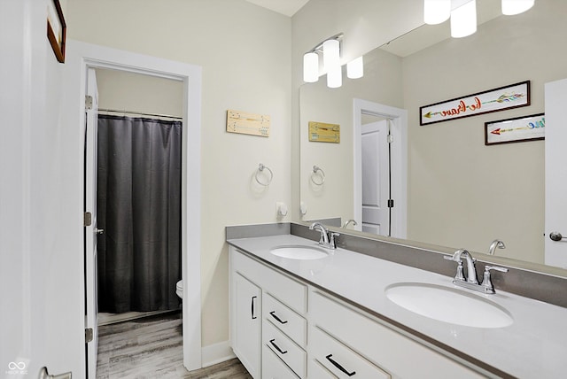
[[[535,0],[501,0],[502,13],[514,15],[532,8]],[[423,21],[429,25],[451,19],[451,36],[466,37],[477,31],[476,0],[423,0]]]

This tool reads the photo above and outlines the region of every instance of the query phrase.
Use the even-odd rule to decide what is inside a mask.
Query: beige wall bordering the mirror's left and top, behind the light
[[[346,63],[383,45],[399,35],[423,24],[422,0],[310,0],[292,17],[292,99],[291,122],[299,125],[299,88],[303,81],[303,54],[318,43],[338,33],[344,33],[341,59]],[[322,78],[324,79],[324,78]],[[324,85],[324,84],[323,84]],[[300,130],[291,131],[291,213],[293,220],[300,220],[299,202],[305,179],[300,169]],[[326,174],[326,172],[325,172]],[[329,194],[331,195],[331,193]],[[315,197],[312,197],[314,199]],[[311,215],[322,209],[325,194],[316,197]],[[352,204],[352,202],[351,202]],[[309,206],[309,205],[308,205]],[[313,217],[315,218],[315,217]]]

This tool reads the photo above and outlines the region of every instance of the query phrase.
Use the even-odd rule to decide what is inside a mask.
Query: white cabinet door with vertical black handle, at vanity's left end
[[[250,375],[260,377],[261,290],[244,276],[233,274],[232,349]]]

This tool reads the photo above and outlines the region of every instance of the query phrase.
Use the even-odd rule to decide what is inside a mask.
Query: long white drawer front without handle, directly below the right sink
[[[439,372],[445,377],[484,377],[318,291],[309,294],[309,313],[319,328],[396,377],[437,378]]]

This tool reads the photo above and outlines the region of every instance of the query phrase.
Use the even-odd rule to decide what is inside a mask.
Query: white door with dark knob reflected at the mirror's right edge
[[[567,79],[546,83],[545,264],[563,268],[567,268],[566,93]]]

